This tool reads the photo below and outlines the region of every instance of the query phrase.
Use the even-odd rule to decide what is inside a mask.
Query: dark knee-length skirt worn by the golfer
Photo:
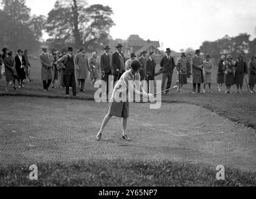
[[[118,118],[129,118],[129,103],[112,101],[108,104],[107,114]]]

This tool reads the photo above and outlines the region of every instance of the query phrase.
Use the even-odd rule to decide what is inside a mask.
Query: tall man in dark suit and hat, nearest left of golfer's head
[[[116,52],[112,55],[114,83],[120,80],[121,75],[125,72],[125,55],[121,52],[123,45],[116,45]]]

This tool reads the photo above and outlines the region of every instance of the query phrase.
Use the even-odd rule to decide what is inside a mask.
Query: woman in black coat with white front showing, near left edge
[[[22,50],[19,49],[15,57],[15,68],[18,75],[19,88],[24,88],[23,80],[26,80],[25,63],[25,59],[22,56]]]

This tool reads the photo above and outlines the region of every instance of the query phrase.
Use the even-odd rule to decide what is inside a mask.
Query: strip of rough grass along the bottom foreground
[[[225,168],[225,180],[216,169],[202,164],[163,160],[93,160],[38,164],[38,180],[29,180],[29,165],[0,167],[0,186],[256,186],[256,173]]]

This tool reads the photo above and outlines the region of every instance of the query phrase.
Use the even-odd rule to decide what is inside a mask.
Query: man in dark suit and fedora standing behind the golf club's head
[[[173,69],[175,68],[174,58],[171,57],[171,49],[166,49],[166,56],[164,56],[160,63],[163,80],[162,80],[162,91],[164,91],[164,86],[167,80],[166,90],[171,88],[171,81],[173,79]],[[166,95],[169,94],[169,91],[166,91]]]

